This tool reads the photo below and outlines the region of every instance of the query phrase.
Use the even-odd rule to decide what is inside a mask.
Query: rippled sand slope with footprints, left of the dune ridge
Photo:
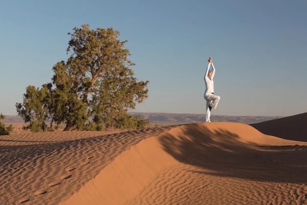
[[[58,204],[122,151],[170,128],[0,136],[0,204]]]

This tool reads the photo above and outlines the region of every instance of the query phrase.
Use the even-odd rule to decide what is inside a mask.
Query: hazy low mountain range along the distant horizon
[[[177,114],[177,113],[147,113],[147,112],[130,112],[130,115],[140,116],[149,119],[151,124],[156,125],[179,125],[194,122],[204,122],[204,114]],[[227,116],[227,115],[211,115],[211,121],[229,121],[241,122],[245,124],[254,124],[257,122],[280,118],[281,116]],[[17,115],[6,115],[2,120],[5,124],[23,124],[23,118]]]

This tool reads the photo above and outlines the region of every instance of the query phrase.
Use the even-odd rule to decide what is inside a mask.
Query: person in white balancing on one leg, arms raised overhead
[[[212,58],[209,57],[209,64],[207,66],[207,71],[204,76],[205,84],[206,84],[206,90],[204,93],[204,98],[206,99],[206,122],[210,121],[210,115],[211,110],[216,109],[218,101],[220,101],[220,96],[213,95],[214,94],[214,82],[213,77],[215,74],[215,68],[212,63]],[[210,69],[210,66],[212,66],[212,69]]]

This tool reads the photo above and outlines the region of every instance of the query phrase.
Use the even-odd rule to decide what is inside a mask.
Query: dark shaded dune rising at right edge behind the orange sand
[[[307,141],[307,113],[252,124],[260,132],[296,141]]]

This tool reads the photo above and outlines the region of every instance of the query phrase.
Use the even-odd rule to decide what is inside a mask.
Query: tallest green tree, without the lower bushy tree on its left
[[[148,81],[138,81],[124,48],[125,41],[118,39],[119,32],[112,28],[91,30],[89,25],[74,28],[67,62],[53,67],[55,92],[67,98],[59,115],[65,122],[64,130],[84,129],[87,119],[99,128],[123,127],[122,119],[130,118],[129,109],[147,97]],[[138,120],[142,120],[136,118]]]

